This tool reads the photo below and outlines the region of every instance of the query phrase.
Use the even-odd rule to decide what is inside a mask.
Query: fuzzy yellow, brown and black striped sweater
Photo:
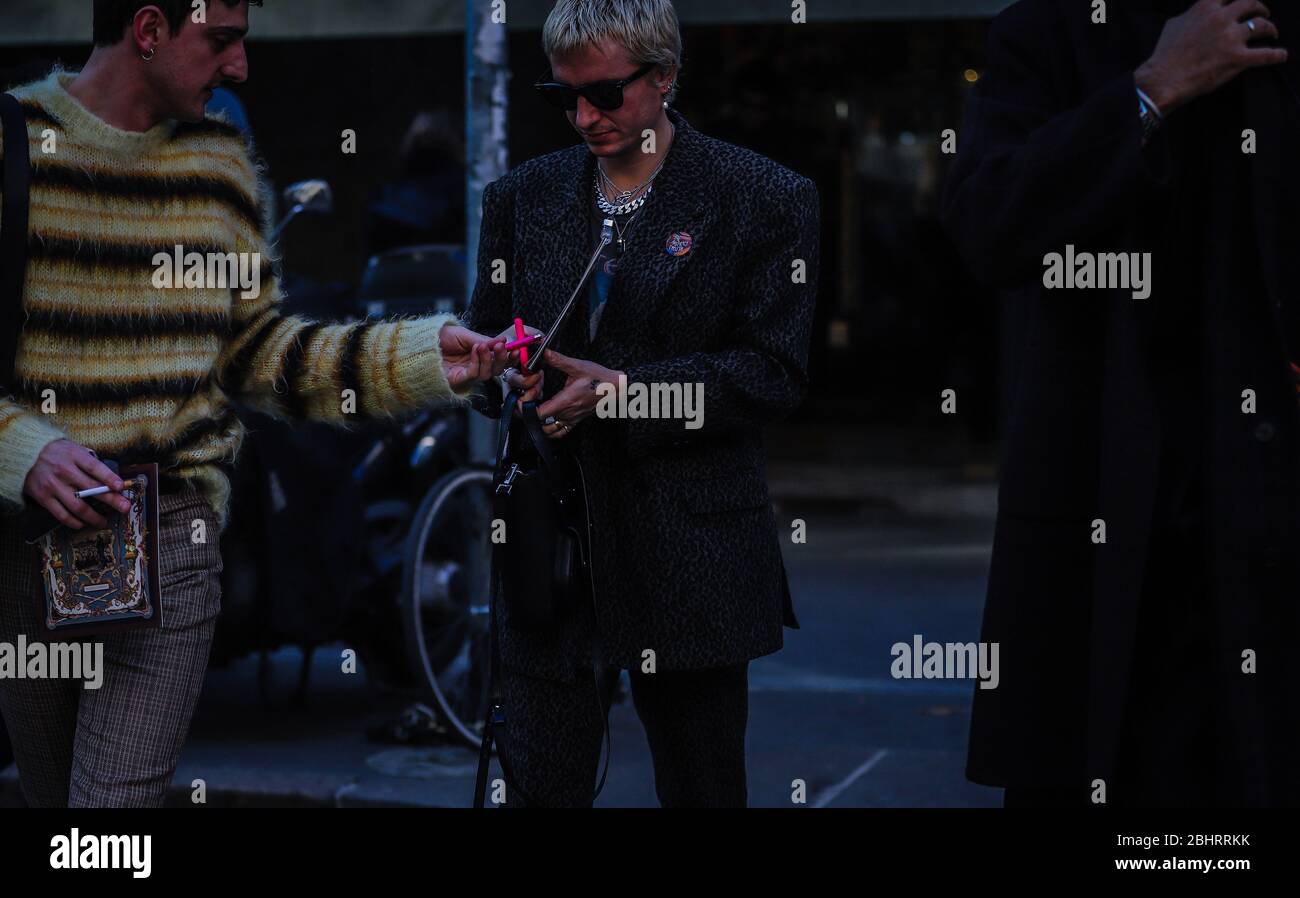
[[[0,498],[21,502],[40,451],[66,437],[101,457],[157,460],[224,526],[243,438],[228,396],[341,425],[462,399],[438,348],[454,316],[325,326],[280,312],[269,203],[235,129],[121,131],[73,99],[73,78],[55,70],[12,91],[27,114],[31,225],[17,383],[0,398]],[[260,253],[260,292],[155,286],[157,253],[177,246]]]

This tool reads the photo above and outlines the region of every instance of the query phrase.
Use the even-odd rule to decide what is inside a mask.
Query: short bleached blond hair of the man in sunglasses
[[[554,58],[597,47],[606,38],[623,44],[634,62],[671,69],[672,88],[667,99],[676,99],[681,27],[672,0],[559,0],[546,17],[542,51]]]

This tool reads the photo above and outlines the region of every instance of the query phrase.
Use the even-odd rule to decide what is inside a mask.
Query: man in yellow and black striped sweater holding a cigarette
[[[29,803],[156,806],[220,609],[216,535],[243,437],[228,396],[290,420],[396,417],[462,400],[508,356],[448,314],[332,326],[283,316],[251,147],[204,117],[216,87],[247,77],[248,0],[94,9],[84,69],[13,91],[31,152],[30,261],[16,382],[0,398],[0,499],[103,526],[74,496],[122,489],[99,457],[157,461],[162,626],[104,637],[94,690],[0,667],[0,711]],[[169,286],[160,274],[176,247],[255,265],[252,289],[196,274]],[[127,507],[116,494],[105,504]],[[207,541],[191,539],[200,520]],[[38,638],[36,568],[6,516],[0,646]]]

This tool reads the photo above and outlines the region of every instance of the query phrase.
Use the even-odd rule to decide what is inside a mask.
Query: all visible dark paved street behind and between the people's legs
[[[751,665],[750,803],[789,807],[803,780],[809,806],[991,806],[1000,793],[962,777],[972,686],[889,676],[889,647],[978,638],[991,525],[901,520],[896,512],[806,516],[807,543],[786,545],[802,629]],[[173,803],[203,778],[209,804],[465,806],[476,755],[464,749],[368,743],[403,695],[339,671],[321,650],[306,707],[265,710],[256,660],[212,671],[177,773]],[[287,695],[299,663],[276,656]],[[650,755],[630,702],[614,708],[614,760],[599,806],[654,806]],[[14,801],[13,768],[0,801]]]

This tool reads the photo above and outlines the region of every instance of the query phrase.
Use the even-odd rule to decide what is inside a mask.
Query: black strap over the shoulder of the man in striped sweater
[[[22,289],[27,278],[27,200],[31,159],[27,152],[27,117],[9,94],[0,94],[4,127],[4,168],[0,190],[0,391],[17,391],[14,357],[22,330]]]

